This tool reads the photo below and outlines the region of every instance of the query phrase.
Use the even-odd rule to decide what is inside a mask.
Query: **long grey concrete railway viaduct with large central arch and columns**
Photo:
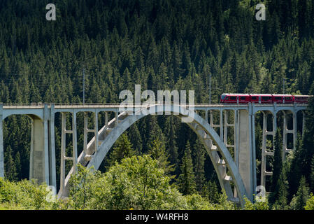
[[[189,118],[187,125],[203,142],[213,162],[221,188],[226,191],[229,200],[243,205],[243,197],[248,197],[252,201],[257,189],[256,113],[262,113],[263,118],[260,186],[265,186],[266,176],[272,175],[272,171],[267,170],[266,160],[273,156],[273,151],[269,151],[266,143],[268,137],[275,137],[277,118],[283,119],[284,160],[286,153],[294,149],[298,127],[303,133],[304,111],[307,105],[187,104],[180,106],[156,103],[142,106],[140,109],[134,106],[128,109],[129,111],[121,111],[120,107],[120,105],[107,104],[0,104],[0,177],[4,176],[5,170],[2,121],[8,116],[27,115],[31,118],[29,179],[36,179],[39,183],[45,182],[48,186],[56,187],[55,114],[62,114],[61,155],[58,155],[61,157],[58,197],[66,197],[69,194],[69,179],[71,174],[77,172],[78,163],[98,169],[118,137],[137,120],[149,114],[173,114],[178,118]],[[84,113],[84,127],[77,127],[77,113],[80,112]],[[92,113],[94,116],[93,129],[88,129],[87,113]],[[100,113],[105,117],[104,124],[98,124]],[[109,113],[114,116],[109,116]],[[71,116],[71,129],[67,130],[66,119],[69,119],[69,116]],[[301,119],[298,120],[298,117]],[[84,129],[83,151],[80,155],[77,146],[78,128]],[[87,142],[88,133],[93,134],[89,142]],[[71,156],[66,156],[66,135],[72,137]],[[292,144],[287,144],[287,141],[292,141]],[[288,148],[288,146],[292,147]],[[65,172],[66,160],[73,161],[73,167],[68,174]]]

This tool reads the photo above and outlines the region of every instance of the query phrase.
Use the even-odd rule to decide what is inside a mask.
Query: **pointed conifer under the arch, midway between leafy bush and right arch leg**
[[[181,174],[178,178],[178,187],[183,195],[191,195],[196,191],[195,175],[191,157],[190,142],[187,141],[185,154],[180,165]]]

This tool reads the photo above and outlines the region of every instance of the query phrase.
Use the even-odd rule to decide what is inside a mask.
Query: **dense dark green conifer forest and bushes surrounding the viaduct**
[[[45,18],[48,3],[56,6],[55,21]],[[258,3],[266,20],[255,18]],[[155,92],[194,90],[199,104],[209,98],[217,104],[224,92],[314,95],[314,1],[0,0],[1,103],[82,104],[83,82],[85,104],[120,104],[120,92],[136,84]],[[267,201],[245,209],[314,209],[313,100],[308,107],[304,133],[285,161],[278,119],[276,138],[267,142],[274,153]],[[259,186],[262,113],[255,119]],[[25,181],[30,139],[30,118],[3,121],[0,209],[238,209],[226,200],[200,139],[174,116],[146,116],[129,127],[99,172],[80,167],[67,202],[51,204],[44,186]],[[59,186],[58,113],[55,139]],[[71,152],[71,139],[66,145]]]

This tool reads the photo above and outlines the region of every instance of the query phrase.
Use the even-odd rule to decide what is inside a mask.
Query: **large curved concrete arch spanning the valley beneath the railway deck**
[[[87,144],[87,151],[83,151],[78,157],[78,162],[84,167],[90,168],[94,167],[94,169],[99,169],[101,162],[104,160],[106,154],[110,150],[111,146],[117,141],[120,135],[127,130],[131,125],[133,125],[137,120],[143,118],[147,115],[155,115],[155,114],[170,114],[173,113],[173,105],[159,107],[157,105],[150,106],[149,108],[142,109],[145,110],[145,113],[138,113],[136,115],[129,115],[127,111],[124,111],[119,114],[117,117],[117,121],[115,118],[108,122],[108,125],[99,130],[99,148],[97,152],[94,152],[94,144],[95,138]],[[151,113],[154,111],[155,113]],[[215,172],[217,173],[217,177],[220,182],[220,186],[223,190],[225,190],[227,197],[231,201],[240,202],[243,206],[244,200],[243,196],[247,196],[245,186],[243,184],[243,180],[241,179],[241,175],[238,172],[238,168],[231,157],[227,147],[224,145],[222,139],[218,136],[218,134],[213,130],[213,127],[210,127],[208,122],[201,118],[201,116],[194,113],[194,111],[190,111],[185,109],[185,107],[180,106],[180,113],[177,112],[176,109],[174,116],[178,118],[189,118],[191,121],[187,123],[192,130],[198,135],[198,137],[203,142],[206,151],[210,157],[210,160],[213,162],[213,166],[215,168]],[[181,113],[181,111],[185,111],[185,113]],[[117,124],[117,125],[116,125]],[[116,127],[115,127],[116,126]],[[219,152],[219,153],[218,153]],[[86,155],[90,156],[89,160],[87,160]],[[227,174],[228,172],[228,174]],[[63,192],[59,192],[59,197],[66,197],[69,195],[69,179],[71,174],[73,173],[73,167],[71,168],[69,174],[65,179],[65,188]],[[229,176],[230,175],[230,176]],[[234,182],[235,192],[231,188],[231,181]]]

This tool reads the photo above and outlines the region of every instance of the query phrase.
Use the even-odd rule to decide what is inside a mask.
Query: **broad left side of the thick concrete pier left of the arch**
[[[49,150],[48,150],[48,107],[45,104],[44,120],[37,116],[31,118],[31,155],[29,179],[49,185]]]

